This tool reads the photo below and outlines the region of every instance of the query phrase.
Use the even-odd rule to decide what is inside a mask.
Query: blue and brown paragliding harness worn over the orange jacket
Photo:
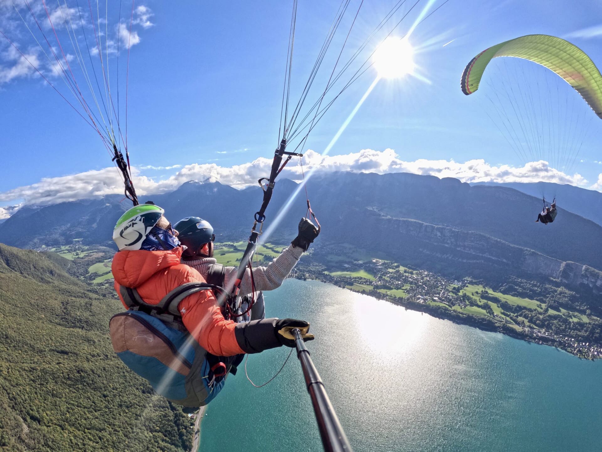
[[[189,295],[213,290],[218,300],[226,300],[227,309],[237,314],[234,321],[248,321],[251,297],[230,297],[222,288],[224,276],[223,265],[212,265],[206,283],[182,284],[158,304],[146,303],[136,289],[119,286],[128,311],[111,318],[114,350],[125,365],[151,383],[155,392],[183,406],[208,404],[223,388],[226,376],[235,375],[244,359],[244,354],[223,357],[208,353],[188,332],[178,310],[180,301]],[[255,299],[263,301],[262,294]],[[259,315],[263,312],[261,309]]]

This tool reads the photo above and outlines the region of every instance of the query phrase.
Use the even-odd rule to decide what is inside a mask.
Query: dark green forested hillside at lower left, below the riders
[[[0,450],[190,450],[188,416],[113,353],[119,301],[66,264],[0,245]]]

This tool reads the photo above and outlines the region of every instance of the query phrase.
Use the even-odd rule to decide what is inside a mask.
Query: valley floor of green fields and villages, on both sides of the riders
[[[237,266],[244,246],[245,242],[216,243],[215,257],[223,265]],[[256,253],[258,265],[268,265],[284,248],[264,243]],[[78,244],[52,251],[75,263],[86,262],[82,278],[97,287],[106,285],[113,293],[110,253]],[[290,278],[334,284],[436,318],[557,347],[583,359],[602,357],[602,321],[595,306],[590,310],[559,300],[542,283],[514,278],[492,287],[485,281],[454,279],[381,258],[353,246],[334,249],[317,243]]]

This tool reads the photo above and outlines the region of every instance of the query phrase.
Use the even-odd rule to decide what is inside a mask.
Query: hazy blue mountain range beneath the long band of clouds
[[[290,180],[276,183],[266,230],[296,188]],[[308,190],[323,227],[316,246],[351,243],[396,262],[458,277],[529,275],[587,288],[591,295],[602,293],[602,227],[565,210],[573,206],[568,196],[559,200],[556,222],[542,225],[534,222],[541,199],[453,178],[340,172],[315,176]],[[150,199],[166,209],[172,222],[191,215],[208,219],[220,241],[246,239],[261,196],[259,187],[236,190],[217,182],[188,182]],[[113,246],[114,224],[131,206],[121,199],[23,207],[0,224],[0,242],[36,248],[82,239],[84,244]],[[268,240],[291,240],[305,212],[305,199],[299,196]]]

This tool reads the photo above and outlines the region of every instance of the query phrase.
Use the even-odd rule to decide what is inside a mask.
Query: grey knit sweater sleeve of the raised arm
[[[289,245],[288,248],[276,257],[265,267],[253,268],[253,280],[255,280],[255,290],[273,290],[280,287],[294,266],[299,262],[303,254],[303,248]],[[238,269],[236,267],[226,267],[224,286],[226,290],[232,290]],[[251,284],[251,272],[247,268],[244,272],[243,280],[240,283],[240,295],[249,295],[253,291]]]

